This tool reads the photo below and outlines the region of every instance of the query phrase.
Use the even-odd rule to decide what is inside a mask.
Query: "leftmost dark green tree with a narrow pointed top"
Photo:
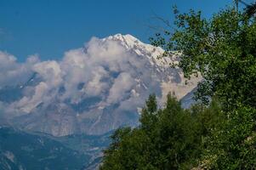
[[[154,165],[156,150],[153,143],[157,122],[156,96],[150,95],[142,110],[141,125],[130,129],[118,129],[112,136],[110,147],[105,150],[100,169],[157,169]]]

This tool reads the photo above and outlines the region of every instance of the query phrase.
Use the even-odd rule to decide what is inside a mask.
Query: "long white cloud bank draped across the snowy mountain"
[[[60,61],[40,61],[31,55],[21,64],[0,51],[0,87],[26,82],[37,74],[38,82],[24,88],[24,96],[11,104],[18,112],[29,113],[54,99],[78,104],[93,97],[100,99],[100,107],[118,104],[118,111],[137,111],[149,94],[161,98],[168,90],[182,92],[185,88],[179,82],[168,84],[163,76],[168,73],[161,73],[148,56],[142,56],[148,55],[143,54],[148,48],[131,50],[120,41],[93,37],[84,48],[65,52]]]

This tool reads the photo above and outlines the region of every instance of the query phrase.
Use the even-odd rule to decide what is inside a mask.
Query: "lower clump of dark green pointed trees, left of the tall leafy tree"
[[[192,168],[202,154],[203,139],[221,122],[213,116],[219,115],[218,111],[216,105],[211,109],[196,105],[191,111],[184,110],[171,95],[166,106],[156,110],[156,97],[151,95],[142,111],[141,125],[118,129],[112,135],[100,168]]]

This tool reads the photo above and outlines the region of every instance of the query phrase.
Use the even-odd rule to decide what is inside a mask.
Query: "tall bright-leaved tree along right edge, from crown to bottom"
[[[191,10],[175,8],[174,31],[151,38],[164,48],[164,56],[179,53],[178,66],[185,77],[202,75],[196,99],[208,104],[218,98],[219,127],[203,127],[209,135],[202,164],[211,169],[255,169],[256,24],[255,18],[226,8],[209,20]],[[196,108],[200,109],[200,108]],[[211,127],[210,131],[208,131]]]

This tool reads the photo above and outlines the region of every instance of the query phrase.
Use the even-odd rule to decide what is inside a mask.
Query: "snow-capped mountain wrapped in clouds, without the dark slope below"
[[[28,81],[11,86],[10,80],[2,80],[7,86],[0,89],[0,111],[15,127],[54,136],[102,134],[136,126],[149,94],[156,94],[159,104],[168,92],[181,99],[201,80],[193,77],[186,84],[182,71],[169,67],[179,56],[157,59],[162,53],[162,48],[117,34],[93,37],[83,48],[67,51],[60,61],[19,64],[12,56],[10,68],[29,63],[23,70],[30,75],[22,76]],[[9,59],[9,54],[0,58]],[[17,97],[1,97],[15,90]]]

